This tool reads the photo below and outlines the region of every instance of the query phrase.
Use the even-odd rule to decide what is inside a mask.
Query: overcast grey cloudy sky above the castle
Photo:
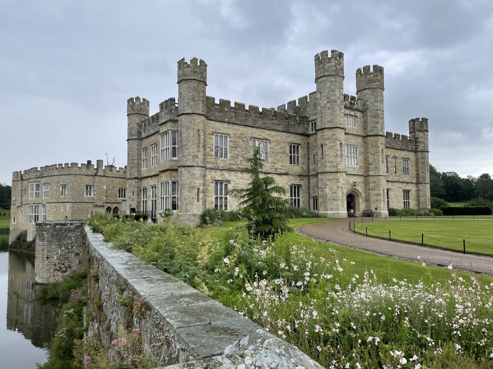
[[[493,174],[491,0],[0,0],[0,183],[115,157],[126,100],[177,97],[176,62],[208,64],[208,95],[277,107],[315,90],[314,56],[385,70],[386,130],[429,119],[430,163]],[[107,153],[107,154],[106,154]]]

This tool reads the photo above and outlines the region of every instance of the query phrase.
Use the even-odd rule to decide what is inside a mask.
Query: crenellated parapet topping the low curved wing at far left
[[[103,160],[97,160],[97,166],[91,160],[87,163],[65,163],[45,165],[40,168],[33,167],[24,171],[15,171],[12,173],[12,182],[21,180],[35,180],[50,176],[60,175],[107,175],[108,177],[126,178],[127,167],[115,167],[114,165],[103,166]],[[101,173],[103,171],[103,173]],[[109,173],[111,172],[111,173]]]

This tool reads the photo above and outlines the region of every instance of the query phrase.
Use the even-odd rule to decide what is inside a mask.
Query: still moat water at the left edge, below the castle
[[[0,235],[0,352],[2,368],[30,369],[46,361],[45,342],[56,324],[56,307],[36,299],[34,256],[8,251]]]

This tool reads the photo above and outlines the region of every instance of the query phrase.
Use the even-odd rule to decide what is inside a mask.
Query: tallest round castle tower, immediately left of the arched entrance
[[[344,54],[332,50],[315,56],[317,84],[317,149],[319,215],[347,216],[345,146]],[[322,158],[323,151],[323,158]]]

